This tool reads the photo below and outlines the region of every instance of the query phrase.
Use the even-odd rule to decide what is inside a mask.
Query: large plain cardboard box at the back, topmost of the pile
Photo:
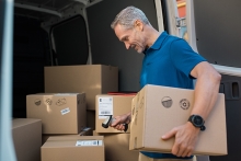
[[[87,108],[95,110],[95,95],[118,91],[118,68],[104,65],[45,67],[45,92],[87,94]]]

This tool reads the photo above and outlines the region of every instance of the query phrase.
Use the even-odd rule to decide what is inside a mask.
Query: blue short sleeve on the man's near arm
[[[180,70],[190,78],[193,78],[191,76],[193,68],[197,64],[206,61],[204,57],[195,53],[186,41],[182,38],[177,38],[172,42],[170,46],[170,57],[176,70]]]

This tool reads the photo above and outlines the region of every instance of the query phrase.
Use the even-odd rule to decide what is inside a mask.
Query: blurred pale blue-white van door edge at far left
[[[0,160],[15,161],[12,142],[13,1],[0,1]]]

